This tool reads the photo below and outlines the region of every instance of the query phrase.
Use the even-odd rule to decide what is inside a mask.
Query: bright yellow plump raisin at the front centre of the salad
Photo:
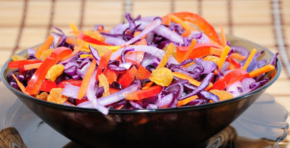
[[[152,71],[149,79],[161,86],[168,86],[173,80],[173,74],[170,69],[162,67]]]

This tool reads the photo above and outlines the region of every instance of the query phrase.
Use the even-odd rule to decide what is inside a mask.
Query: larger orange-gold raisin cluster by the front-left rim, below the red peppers
[[[47,97],[47,101],[57,104],[63,104],[69,98],[62,95],[63,88],[52,88]]]

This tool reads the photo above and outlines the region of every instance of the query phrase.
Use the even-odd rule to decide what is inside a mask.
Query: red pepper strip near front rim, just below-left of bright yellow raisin
[[[142,100],[148,97],[152,97],[161,92],[162,86],[155,85],[147,89],[138,90],[132,93],[125,94],[125,99],[127,100]]]

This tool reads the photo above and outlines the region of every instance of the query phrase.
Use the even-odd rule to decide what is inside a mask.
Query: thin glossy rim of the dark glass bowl
[[[241,40],[243,42],[249,42],[250,44],[253,44],[254,46],[257,46],[259,48],[261,48],[262,50],[266,51],[268,54],[270,54],[271,56],[274,55],[274,53],[272,51],[270,51],[269,49],[267,49],[264,46],[261,46],[257,43],[254,43],[253,41],[250,41],[248,39],[244,39],[241,37],[236,37],[233,35],[226,35],[227,37],[231,37],[234,38],[235,40]],[[37,46],[37,45],[36,45]],[[36,47],[33,46],[33,47]],[[31,48],[33,48],[31,47]],[[24,53],[27,52],[27,49],[17,53],[19,55],[23,55]],[[64,108],[64,109],[70,109],[70,110],[77,110],[77,111],[91,111],[91,112],[100,112],[96,109],[90,109],[90,108],[81,108],[81,107],[76,107],[76,106],[68,106],[68,105],[63,105],[63,104],[56,104],[56,103],[52,103],[52,102],[48,102],[48,101],[44,101],[44,100],[40,100],[37,99],[35,97],[32,97],[30,95],[24,94],[23,92],[21,92],[20,90],[17,90],[15,88],[13,88],[10,84],[7,83],[6,78],[4,76],[4,74],[6,74],[6,70],[8,70],[7,66],[8,66],[8,62],[11,61],[12,58],[8,59],[2,66],[1,71],[0,71],[0,79],[3,82],[3,84],[9,89],[11,90],[13,93],[21,95],[31,101],[37,102],[37,103],[41,103],[41,104],[47,104],[50,106],[55,106],[55,107],[60,107],[60,108]],[[218,102],[214,102],[214,103],[209,103],[209,104],[203,104],[203,105],[197,105],[197,106],[186,106],[186,107],[176,107],[176,108],[165,108],[165,109],[138,109],[138,110],[116,110],[116,109],[109,109],[109,114],[110,113],[157,113],[157,112],[170,112],[170,111],[187,111],[187,110],[193,110],[193,109],[202,109],[202,108],[208,108],[208,107],[212,107],[212,106],[216,106],[219,104],[226,104],[232,101],[236,101],[236,100],[240,100],[243,98],[246,98],[248,96],[251,96],[259,91],[265,90],[267,87],[269,87],[270,85],[272,85],[280,76],[281,72],[282,72],[282,62],[279,59],[279,57],[277,57],[276,60],[276,74],[274,77],[271,78],[270,81],[268,81],[266,84],[264,84],[263,86],[255,89],[254,91],[251,91],[249,93],[228,99],[228,100],[223,100],[223,101],[218,101]],[[101,113],[101,112],[100,112]]]

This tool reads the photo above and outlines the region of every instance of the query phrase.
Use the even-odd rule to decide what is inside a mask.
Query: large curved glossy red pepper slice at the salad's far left
[[[57,62],[59,62],[63,57],[71,53],[72,49],[67,47],[58,47],[54,49],[33,74],[25,91],[31,95],[36,95],[39,91],[39,88],[41,87],[43,80],[45,79],[47,71]]]

